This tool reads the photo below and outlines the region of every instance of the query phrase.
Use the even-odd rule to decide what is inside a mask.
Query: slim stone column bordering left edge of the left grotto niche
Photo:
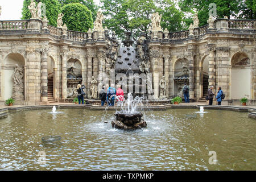
[[[67,98],[67,53],[68,46],[62,47],[62,62],[61,62],[61,99]]]

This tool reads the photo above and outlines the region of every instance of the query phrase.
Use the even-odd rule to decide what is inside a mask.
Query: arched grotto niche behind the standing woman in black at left
[[[69,59],[67,63],[67,98],[76,97],[77,84],[82,83],[82,63],[78,59]]]

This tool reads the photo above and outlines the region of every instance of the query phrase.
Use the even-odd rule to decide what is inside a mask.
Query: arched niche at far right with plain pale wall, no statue
[[[251,99],[251,64],[244,52],[237,52],[231,59],[231,99]]]

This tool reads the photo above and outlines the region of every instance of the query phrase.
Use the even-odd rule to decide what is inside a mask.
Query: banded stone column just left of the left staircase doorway
[[[49,49],[48,47],[42,48],[42,59],[41,59],[41,86],[42,93],[41,99],[43,101],[48,101],[48,71],[47,71],[47,56]]]

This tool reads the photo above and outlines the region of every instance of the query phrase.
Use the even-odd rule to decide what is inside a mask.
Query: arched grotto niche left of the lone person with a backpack
[[[182,93],[182,88],[184,86],[184,83],[187,83],[189,85],[189,64],[188,60],[185,58],[177,59],[174,63],[173,67],[173,73],[174,73],[174,82],[173,82],[173,88],[174,88],[174,96],[180,96],[184,97]]]

